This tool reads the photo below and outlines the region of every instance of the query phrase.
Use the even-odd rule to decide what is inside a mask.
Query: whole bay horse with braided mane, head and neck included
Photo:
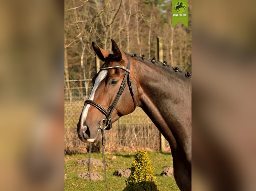
[[[191,190],[191,76],[158,61],[130,57],[111,41],[113,54],[92,42],[104,63],[93,78],[77,124],[78,137],[94,142],[100,129],[109,130],[112,122],[139,106],[169,142],[177,186]]]

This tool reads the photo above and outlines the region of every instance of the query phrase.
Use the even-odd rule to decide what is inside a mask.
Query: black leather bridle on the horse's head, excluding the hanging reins
[[[125,85],[126,85],[126,80],[127,80],[129,90],[130,90],[130,93],[131,93],[131,96],[132,96],[132,99],[133,99],[134,109],[136,108],[135,96],[134,96],[134,92],[133,92],[133,89],[132,89],[132,81],[131,81],[130,76],[129,76],[130,60],[129,60],[127,55],[126,55],[126,57],[127,57],[127,61],[128,61],[127,62],[127,68],[125,68],[124,66],[121,66],[121,65],[120,66],[111,66],[111,67],[104,67],[104,68],[101,67],[100,68],[101,70],[109,70],[109,69],[120,68],[120,69],[126,71],[126,74],[124,76],[122,84],[119,88],[119,91],[118,91],[112,105],[108,109],[105,109],[102,105],[100,105],[99,103],[96,103],[93,100],[88,99],[88,100],[85,101],[85,105],[90,104],[90,105],[96,107],[100,112],[102,112],[105,115],[106,118],[99,121],[99,129],[104,128],[106,130],[109,130],[109,129],[112,128],[111,115],[112,115],[112,112],[113,112],[114,108],[116,107],[116,104],[117,104],[120,96],[122,95],[122,93],[124,91],[124,88],[125,88]]]

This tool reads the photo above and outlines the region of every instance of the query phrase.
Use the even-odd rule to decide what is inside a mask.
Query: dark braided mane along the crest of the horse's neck
[[[139,61],[139,62],[143,62],[143,63],[146,63],[146,64],[151,64],[151,65],[154,65],[154,66],[156,66],[157,68],[159,68],[160,70],[162,70],[163,72],[167,72],[167,73],[169,73],[170,75],[175,75],[176,77],[178,77],[178,78],[181,78],[181,79],[183,79],[183,80],[187,80],[187,79],[191,79],[191,76],[190,77],[185,77],[185,73],[184,72],[182,72],[182,71],[177,71],[177,72],[175,72],[174,71],[174,68],[172,67],[172,66],[170,66],[170,65],[168,65],[168,64],[166,64],[165,66],[163,65],[163,63],[162,62],[160,62],[160,61],[155,61],[155,63],[152,63],[151,62],[151,59],[149,59],[149,58],[144,58],[144,59],[142,59],[140,56],[133,56],[133,55],[131,55],[131,54],[127,54],[127,53],[125,53],[126,55],[128,55],[128,56],[132,56],[132,58],[133,59],[135,59],[135,60],[137,60],[137,61]]]

